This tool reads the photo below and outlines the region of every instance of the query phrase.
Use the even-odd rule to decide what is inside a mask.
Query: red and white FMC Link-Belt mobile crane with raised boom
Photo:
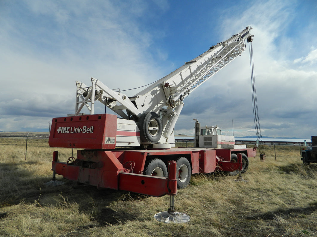
[[[54,151],[54,177],[56,173],[98,188],[159,197],[175,195],[172,187],[176,183],[178,188],[185,188],[193,173],[238,170],[242,154],[255,157],[256,148],[172,148],[173,131],[184,99],[245,51],[245,40],[253,36],[251,29],[246,27],[211,46],[132,97],[111,90],[94,78],[90,86],[76,82],[75,113],[53,118],[49,145],[80,149],[76,159],[69,157],[67,162],[59,161],[59,152]],[[95,101],[120,118],[108,113],[94,114]],[[88,113],[81,112],[84,107]],[[231,161],[233,153],[239,162]],[[174,171],[176,179],[172,176]]]

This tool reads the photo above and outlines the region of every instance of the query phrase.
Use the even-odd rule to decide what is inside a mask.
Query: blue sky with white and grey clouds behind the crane
[[[2,0],[0,130],[48,131],[53,117],[74,113],[75,81],[146,85],[251,26],[262,136],[309,138],[316,12],[315,0]],[[191,135],[196,118],[228,134],[233,119],[235,136],[254,136],[249,49],[184,103],[176,134]]]

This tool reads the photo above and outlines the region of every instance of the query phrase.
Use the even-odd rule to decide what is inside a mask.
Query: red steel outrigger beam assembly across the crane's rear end
[[[75,162],[53,161],[52,170],[65,179],[96,186],[97,188],[111,188],[115,190],[131,191],[154,197],[165,194],[177,194],[176,161],[169,161],[168,178],[149,176],[143,174],[126,173],[124,169],[109,167],[84,168],[76,166]]]

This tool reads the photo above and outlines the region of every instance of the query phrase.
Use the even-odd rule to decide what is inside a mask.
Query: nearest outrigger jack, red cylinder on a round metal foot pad
[[[159,222],[164,223],[186,223],[191,217],[185,213],[175,210],[175,196],[177,195],[177,179],[176,179],[176,161],[168,161],[168,189],[170,194],[170,208],[167,211],[161,211],[154,215]]]

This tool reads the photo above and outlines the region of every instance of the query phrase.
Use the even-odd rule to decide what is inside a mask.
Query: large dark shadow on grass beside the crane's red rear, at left
[[[140,210],[132,204],[147,196],[112,189],[98,190],[91,185],[77,185],[75,182],[56,175],[65,182],[60,186],[46,186],[50,177],[39,177],[25,165],[35,166],[36,161],[0,163],[0,208],[21,203],[70,208],[76,204],[79,213],[91,216],[98,226],[117,225],[141,218]],[[118,204],[119,203],[119,204]]]

